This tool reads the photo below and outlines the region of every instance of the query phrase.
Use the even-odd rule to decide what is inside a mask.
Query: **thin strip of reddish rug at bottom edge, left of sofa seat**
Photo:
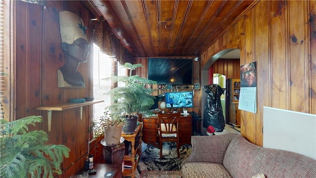
[[[140,178],[181,178],[181,171],[142,171]]]

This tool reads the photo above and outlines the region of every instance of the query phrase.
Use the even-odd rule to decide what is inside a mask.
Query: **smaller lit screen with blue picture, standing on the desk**
[[[166,108],[193,107],[193,91],[165,93]]]

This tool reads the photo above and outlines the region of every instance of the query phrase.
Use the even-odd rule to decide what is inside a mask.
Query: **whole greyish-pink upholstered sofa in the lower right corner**
[[[316,160],[264,148],[237,133],[192,136],[182,178],[316,178]]]

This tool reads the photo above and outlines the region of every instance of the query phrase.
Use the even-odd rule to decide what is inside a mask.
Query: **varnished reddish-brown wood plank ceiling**
[[[255,0],[89,0],[135,57],[197,56]]]

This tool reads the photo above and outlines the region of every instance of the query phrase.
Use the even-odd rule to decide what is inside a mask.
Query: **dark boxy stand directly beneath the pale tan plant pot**
[[[118,146],[103,146],[103,158],[105,163],[122,164],[125,153],[125,143],[119,143]]]

